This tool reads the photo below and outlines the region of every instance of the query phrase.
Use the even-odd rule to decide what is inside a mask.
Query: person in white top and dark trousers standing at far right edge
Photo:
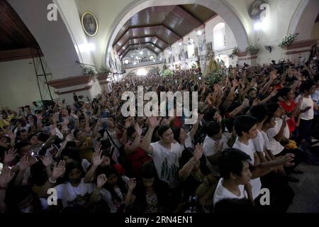
[[[300,86],[300,91],[302,94],[296,98],[296,102],[298,102],[299,99],[303,99],[298,127],[298,142],[311,143],[314,111],[318,111],[317,104],[311,98],[311,95],[315,93],[315,83],[310,80],[303,82]]]

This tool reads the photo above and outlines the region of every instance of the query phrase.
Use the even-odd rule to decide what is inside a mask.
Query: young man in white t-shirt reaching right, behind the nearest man
[[[258,204],[260,189],[262,189],[262,183],[259,177],[267,175],[272,170],[276,170],[280,165],[278,165],[278,160],[273,160],[270,162],[260,163],[259,157],[257,155],[256,149],[254,148],[254,143],[252,139],[257,136],[257,119],[252,116],[237,116],[234,120],[235,131],[238,138],[233,145],[233,148],[242,150],[247,155],[250,155],[250,164],[253,167],[261,168],[262,172],[254,171],[250,184],[252,186],[252,198]],[[288,154],[288,157],[293,157],[294,155]],[[285,156],[286,157],[286,156]],[[291,166],[292,164],[289,164]]]

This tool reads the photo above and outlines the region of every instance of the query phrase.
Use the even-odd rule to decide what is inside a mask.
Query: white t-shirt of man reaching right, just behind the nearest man
[[[249,140],[248,145],[246,145],[245,143],[241,143],[237,137],[233,148],[242,150],[242,152],[250,155],[250,164],[254,165],[254,153],[256,152],[256,148],[254,148],[254,143],[252,142],[252,140]],[[257,177],[255,179],[250,179],[250,185],[252,186],[252,197],[253,199],[256,199],[257,196],[259,196],[260,189],[262,189],[262,182],[260,181],[260,178]]]

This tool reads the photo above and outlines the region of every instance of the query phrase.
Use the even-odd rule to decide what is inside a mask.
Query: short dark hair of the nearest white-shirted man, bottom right
[[[237,148],[225,149],[218,158],[220,177],[228,179],[231,172],[237,176],[241,176],[242,168],[244,167],[242,162],[249,162],[250,160],[250,155],[247,155]]]

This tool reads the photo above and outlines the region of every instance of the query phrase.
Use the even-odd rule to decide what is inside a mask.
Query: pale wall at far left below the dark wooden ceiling
[[[18,110],[41,100],[32,59],[0,62],[0,77],[0,108]]]

